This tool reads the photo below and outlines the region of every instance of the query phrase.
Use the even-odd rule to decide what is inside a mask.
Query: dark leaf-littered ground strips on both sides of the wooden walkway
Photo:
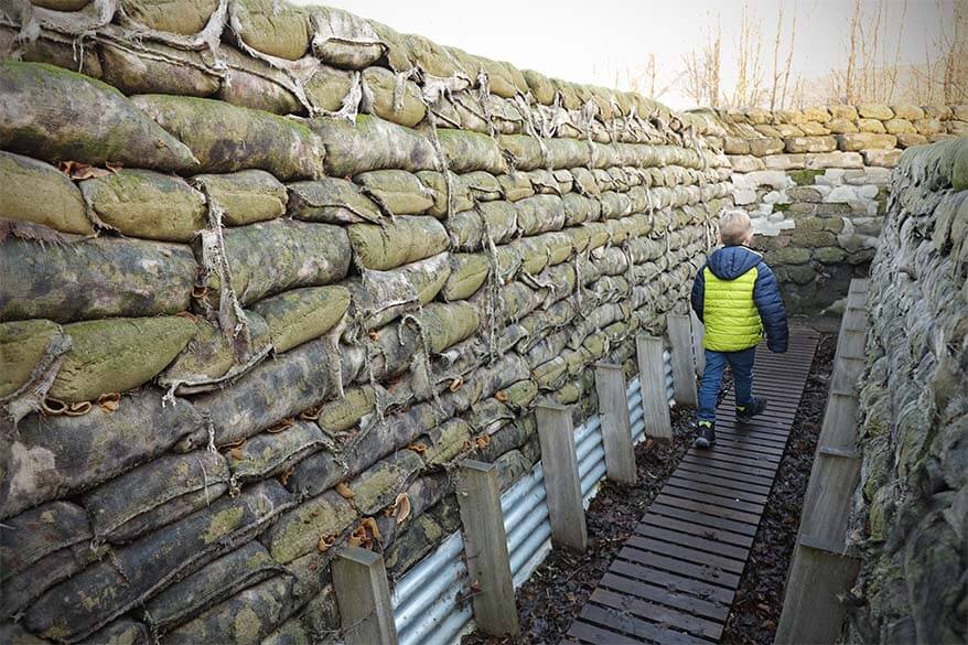
[[[722,637],[724,644],[773,643],[783,605],[783,584],[799,525],[800,504],[827,401],[836,342],[835,334],[825,333],[821,336],[803,405],[794,420],[789,450],[781,462],[751,560],[743,572],[733,612],[727,623]],[[728,372],[723,379],[723,391],[731,385]],[[488,638],[475,632],[465,636],[462,645],[558,643],[622,544],[686,454],[692,437],[691,422],[691,409],[674,408],[674,439],[670,442],[647,440],[635,448],[637,486],[622,486],[609,481],[602,483],[587,514],[588,552],[579,556],[561,550],[551,551],[531,579],[518,589],[516,599],[520,636]]]

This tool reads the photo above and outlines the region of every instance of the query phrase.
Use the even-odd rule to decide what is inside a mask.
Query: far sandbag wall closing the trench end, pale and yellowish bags
[[[705,111],[708,118],[713,116]],[[776,269],[787,307],[816,314],[867,275],[902,150],[968,135],[968,106],[716,110],[733,198]],[[833,308],[837,311],[837,308]]]

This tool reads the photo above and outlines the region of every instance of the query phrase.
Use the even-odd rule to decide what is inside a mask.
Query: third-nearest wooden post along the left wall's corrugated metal
[[[556,404],[540,404],[536,412],[545,492],[551,516],[551,541],[584,552],[588,548],[588,528],[571,412]]]

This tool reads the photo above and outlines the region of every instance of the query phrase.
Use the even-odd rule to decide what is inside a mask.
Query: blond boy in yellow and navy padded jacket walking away
[[[716,404],[727,364],[733,369],[736,421],[749,422],[766,409],[766,399],[752,396],[753,358],[766,331],[771,352],[786,352],[789,332],[776,277],[762,256],[747,248],[753,224],[743,211],[727,211],[719,219],[719,241],[692,283],[692,309],[706,325],[706,372],[699,385],[697,448],[716,443]]]

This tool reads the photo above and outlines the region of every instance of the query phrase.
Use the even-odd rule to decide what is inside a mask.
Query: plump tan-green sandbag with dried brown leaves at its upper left
[[[205,228],[205,195],[185,180],[151,170],[121,169],[80,183],[97,218],[123,235],[189,243]]]

